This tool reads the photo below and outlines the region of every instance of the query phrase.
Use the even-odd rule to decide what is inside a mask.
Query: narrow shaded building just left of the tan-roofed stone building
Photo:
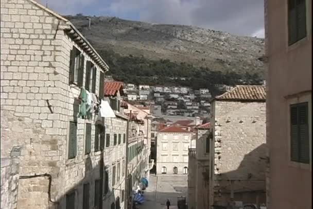
[[[188,150],[188,208],[209,208],[208,179],[212,160],[209,158],[212,147],[210,128],[210,123],[197,126],[196,147]]]

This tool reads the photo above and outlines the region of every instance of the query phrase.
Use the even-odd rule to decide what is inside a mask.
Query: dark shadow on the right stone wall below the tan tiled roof
[[[214,204],[229,202],[231,190],[234,201],[266,203],[266,156],[267,146],[264,143],[246,154],[236,170],[215,175],[219,185],[214,188]]]

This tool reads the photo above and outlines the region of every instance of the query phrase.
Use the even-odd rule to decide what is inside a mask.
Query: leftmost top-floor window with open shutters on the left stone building
[[[69,83],[75,83],[82,87],[84,75],[84,56],[81,52],[73,46],[69,59]]]

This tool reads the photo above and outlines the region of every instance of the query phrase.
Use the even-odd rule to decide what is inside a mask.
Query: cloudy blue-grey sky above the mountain
[[[39,0],[66,15],[117,16],[264,38],[264,0]]]

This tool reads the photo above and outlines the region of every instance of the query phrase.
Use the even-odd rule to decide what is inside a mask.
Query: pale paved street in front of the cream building
[[[187,176],[153,176],[149,178],[149,187],[144,193],[146,201],[140,209],[166,208],[166,200],[171,202],[170,208],[177,208],[177,197],[187,196]]]

